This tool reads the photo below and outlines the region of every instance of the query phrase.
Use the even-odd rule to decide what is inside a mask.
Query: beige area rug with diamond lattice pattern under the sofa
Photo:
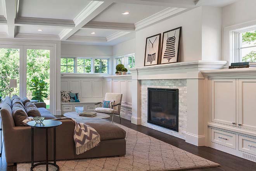
[[[60,171],[169,171],[220,166],[217,163],[159,141],[136,130],[126,131],[126,155],[57,161]],[[17,171],[29,171],[31,163],[18,163]],[[45,171],[37,166],[34,171]],[[49,171],[55,171],[49,166]]]

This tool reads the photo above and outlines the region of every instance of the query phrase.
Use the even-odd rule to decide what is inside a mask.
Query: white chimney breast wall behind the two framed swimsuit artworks
[[[182,27],[179,62],[202,58],[202,7],[197,7],[136,32],[136,66],[144,66],[146,38]],[[161,35],[162,36],[162,35]]]

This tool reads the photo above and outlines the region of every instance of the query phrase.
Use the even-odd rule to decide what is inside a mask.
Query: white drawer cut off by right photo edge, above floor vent
[[[256,155],[256,139],[239,135],[239,151]]]

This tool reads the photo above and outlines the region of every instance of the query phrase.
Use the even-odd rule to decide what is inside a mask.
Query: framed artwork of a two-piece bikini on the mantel
[[[147,37],[145,47],[144,66],[157,65],[160,50],[161,34]]]

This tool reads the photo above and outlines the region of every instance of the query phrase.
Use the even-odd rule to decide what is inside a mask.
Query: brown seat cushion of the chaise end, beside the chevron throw
[[[81,121],[77,120],[77,122]],[[119,139],[126,136],[125,130],[104,119],[86,120],[83,123],[93,127],[100,134],[100,140]]]

